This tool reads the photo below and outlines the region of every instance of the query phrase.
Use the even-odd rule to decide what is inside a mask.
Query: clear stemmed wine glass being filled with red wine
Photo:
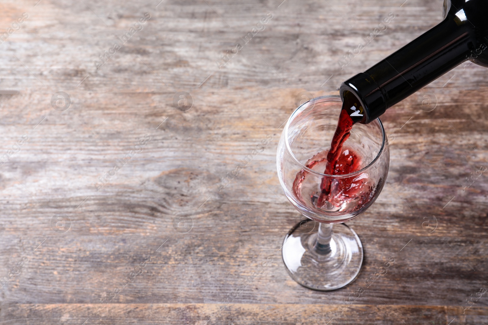
[[[322,96],[297,108],[281,135],[276,162],[286,197],[306,217],[286,234],[283,261],[293,280],[321,291],[344,287],[359,274],[363,246],[344,222],[376,200],[389,167],[386,134],[378,118],[355,124],[344,143],[341,154],[354,160],[356,171],[323,173],[341,107],[340,96]],[[319,205],[323,179],[331,184],[330,194]]]

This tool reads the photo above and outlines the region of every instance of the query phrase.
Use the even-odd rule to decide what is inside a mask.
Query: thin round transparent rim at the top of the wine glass
[[[381,123],[381,120],[380,118],[376,118],[376,120],[378,121],[379,125],[380,125],[380,129],[381,129],[381,133],[382,133],[382,143],[381,143],[381,148],[380,148],[380,151],[378,152],[378,154],[376,155],[376,157],[371,160],[371,162],[364,168],[360,169],[359,171],[356,171],[356,172],[351,172],[351,173],[348,173],[348,174],[342,174],[342,175],[330,175],[330,174],[324,174],[322,172],[316,172],[314,171],[313,169],[310,169],[308,167],[306,167],[304,164],[302,164],[298,158],[295,156],[295,154],[293,153],[293,151],[291,151],[291,148],[290,148],[290,144],[288,142],[288,127],[291,123],[291,121],[293,121],[293,119],[298,116],[298,114],[301,112],[300,110],[302,109],[302,107],[304,105],[307,105],[309,102],[311,101],[319,101],[319,100],[322,100],[322,99],[328,99],[328,98],[334,98],[334,99],[341,99],[341,96],[339,95],[326,95],[326,96],[319,96],[319,97],[315,97],[315,98],[312,98],[308,101],[306,101],[305,103],[303,103],[302,105],[300,105],[291,115],[290,117],[288,117],[288,121],[286,122],[286,125],[285,125],[285,129],[284,129],[284,133],[285,133],[285,144],[286,144],[286,150],[288,151],[288,153],[291,155],[291,157],[293,158],[293,160],[295,160],[295,162],[300,165],[302,167],[303,170],[305,170],[306,172],[310,172],[312,174],[315,174],[317,176],[322,176],[322,177],[331,177],[331,178],[346,178],[346,177],[351,177],[351,176],[356,176],[362,172],[365,172],[367,169],[369,169],[380,157],[380,155],[383,153],[383,151],[385,150],[385,144],[386,144],[386,134],[385,134],[385,128],[383,127],[383,123]],[[341,102],[342,102],[342,99],[341,99]],[[371,121],[372,122],[372,121]]]

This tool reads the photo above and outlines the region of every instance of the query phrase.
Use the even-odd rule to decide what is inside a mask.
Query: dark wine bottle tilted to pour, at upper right
[[[445,0],[441,23],[341,84],[344,109],[369,123],[466,60],[488,67],[487,48],[488,1]]]

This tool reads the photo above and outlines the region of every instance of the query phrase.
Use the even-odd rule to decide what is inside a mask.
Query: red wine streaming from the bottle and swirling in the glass
[[[384,180],[377,177],[375,171],[373,174],[358,172],[369,162],[367,150],[356,141],[350,145],[346,142],[354,124],[364,123],[364,115],[361,102],[351,92],[343,94],[343,106],[330,149],[308,159],[304,164],[307,168],[300,170],[293,181],[292,191],[300,205],[317,216],[323,216],[325,212],[332,223],[354,217],[353,212],[365,209],[383,188]],[[323,218],[318,217],[318,221],[321,220]]]

